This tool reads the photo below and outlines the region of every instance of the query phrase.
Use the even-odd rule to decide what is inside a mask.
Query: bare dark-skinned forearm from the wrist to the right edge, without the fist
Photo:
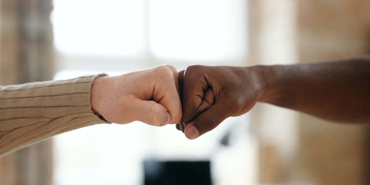
[[[258,101],[337,122],[370,123],[370,57],[255,66]]]

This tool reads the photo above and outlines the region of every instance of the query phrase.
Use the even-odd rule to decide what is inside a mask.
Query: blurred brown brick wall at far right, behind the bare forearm
[[[300,63],[370,54],[370,1],[298,1]],[[369,127],[299,115],[302,168],[322,185],[370,184]]]

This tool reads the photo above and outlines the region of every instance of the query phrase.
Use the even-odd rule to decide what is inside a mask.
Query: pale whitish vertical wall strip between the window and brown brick
[[[250,0],[249,20],[250,64],[297,63],[296,0]],[[286,182],[297,157],[297,112],[258,103],[249,114],[260,147],[260,183]]]

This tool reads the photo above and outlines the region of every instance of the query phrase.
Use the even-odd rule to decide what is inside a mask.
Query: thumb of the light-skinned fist
[[[168,124],[171,120],[168,110],[155,101],[135,98],[134,105],[136,105],[136,109],[131,111],[131,115],[134,116],[135,120],[158,127]]]

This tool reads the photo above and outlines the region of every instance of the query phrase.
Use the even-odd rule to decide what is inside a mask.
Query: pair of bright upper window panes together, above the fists
[[[246,56],[244,0],[54,0],[64,55],[214,62]]]

